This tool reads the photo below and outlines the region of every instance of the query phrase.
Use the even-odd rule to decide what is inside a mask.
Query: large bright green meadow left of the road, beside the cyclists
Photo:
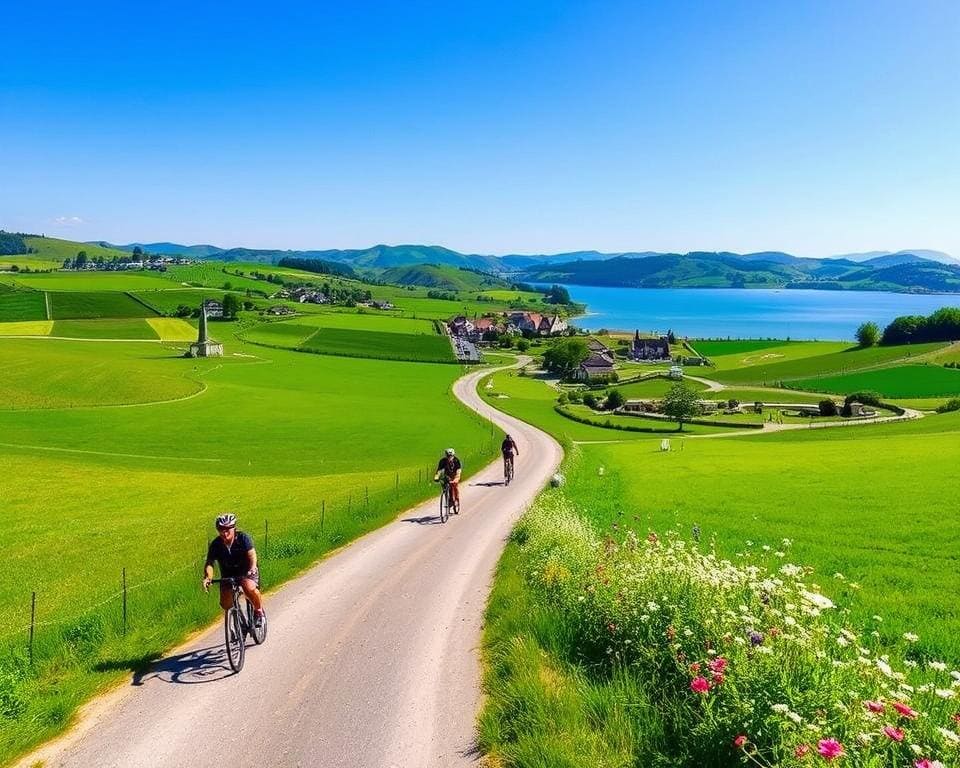
[[[62,729],[92,692],[216,616],[216,599],[197,588],[215,512],[239,514],[272,588],[432,495],[430,470],[444,446],[457,446],[468,472],[494,452],[488,426],[449,396],[455,366],[256,346],[239,347],[248,357],[185,360],[161,345],[0,344],[12,361],[0,366],[2,401],[48,406],[0,411],[0,701],[12,713],[0,728],[0,762]],[[156,398],[201,383],[202,394],[178,402],[49,407]],[[164,532],[146,559],[145,531]],[[124,567],[125,638],[120,602],[110,599]],[[33,590],[41,623],[31,670],[21,629]]]

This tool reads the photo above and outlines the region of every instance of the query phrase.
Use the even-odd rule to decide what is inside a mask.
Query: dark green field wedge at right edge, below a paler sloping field
[[[793,386],[837,394],[871,391],[891,398],[941,397],[960,394],[960,370],[941,365],[898,365],[845,376],[800,379]]]

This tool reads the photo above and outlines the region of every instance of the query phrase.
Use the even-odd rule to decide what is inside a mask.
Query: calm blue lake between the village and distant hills
[[[594,288],[568,285],[587,305],[581,328],[668,329],[681,336],[852,339],[872,320],[881,328],[898,315],[960,307],[960,294],[879,291],[738,290],[736,288]]]

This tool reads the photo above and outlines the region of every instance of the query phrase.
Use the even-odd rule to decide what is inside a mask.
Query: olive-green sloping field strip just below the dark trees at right
[[[803,348],[805,344],[798,344]],[[909,362],[941,349],[943,344],[913,344],[898,347],[848,348],[845,351],[820,354],[780,362],[754,363],[743,368],[718,369],[713,377],[726,384],[772,384],[814,376],[834,376],[849,371],[878,368]]]

